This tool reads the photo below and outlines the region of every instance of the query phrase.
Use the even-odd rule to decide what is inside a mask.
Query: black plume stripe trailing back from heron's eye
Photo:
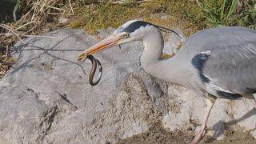
[[[175,32],[174,30],[170,30],[170,29],[168,29],[166,27],[154,25],[154,24],[152,24],[150,22],[143,22],[143,21],[132,22],[132,23],[130,23],[129,26],[124,28],[122,31],[124,31],[126,33],[132,33],[135,30],[137,30],[138,28],[140,28],[141,26],[145,27],[147,25],[155,26],[156,28],[158,28],[158,30],[166,32],[166,33],[173,32],[174,34],[177,34],[180,38],[182,38],[182,36],[180,34],[178,34],[177,32]]]

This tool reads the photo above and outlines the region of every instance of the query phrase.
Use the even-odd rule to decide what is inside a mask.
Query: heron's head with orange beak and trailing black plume
[[[156,26],[149,22],[143,22],[138,20],[131,20],[119,26],[117,30],[114,31],[109,37],[98,42],[96,45],[84,50],[82,53],[78,54],[78,61],[84,62],[88,55],[97,53],[100,50],[106,50],[112,46],[120,46],[127,42],[134,42],[142,40],[146,34],[152,30],[163,30],[168,31],[169,29]],[[174,32],[173,30],[169,30]],[[176,32],[174,32],[177,34]]]

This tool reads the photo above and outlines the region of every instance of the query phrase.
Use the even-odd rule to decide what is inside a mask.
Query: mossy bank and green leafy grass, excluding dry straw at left
[[[81,1],[82,2],[82,1]],[[202,0],[200,5],[190,0],[151,0],[137,4],[130,0],[125,5],[86,1],[75,9],[72,28],[90,33],[99,29],[117,28],[128,20],[140,18],[167,27],[178,27],[186,36],[214,26],[248,26],[255,29],[254,0]],[[161,18],[166,14],[166,18]]]

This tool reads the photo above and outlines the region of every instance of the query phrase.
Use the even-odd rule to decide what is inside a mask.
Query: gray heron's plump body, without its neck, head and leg
[[[226,26],[199,31],[186,39],[173,58],[156,64],[161,65],[174,67],[158,72],[158,78],[206,90],[219,98],[253,98],[256,30]]]

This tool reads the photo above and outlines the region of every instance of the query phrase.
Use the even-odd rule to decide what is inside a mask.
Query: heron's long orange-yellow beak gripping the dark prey
[[[84,62],[88,55],[95,54],[100,50],[106,50],[112,46],[117,46],[122,43],[121,41],[122,38],[120,38],[120,34],[111,35],[110,37],[103,39],[101,42],[98,42],[96,45],[91,46],[82,53],[78,54],[78,62]]]

